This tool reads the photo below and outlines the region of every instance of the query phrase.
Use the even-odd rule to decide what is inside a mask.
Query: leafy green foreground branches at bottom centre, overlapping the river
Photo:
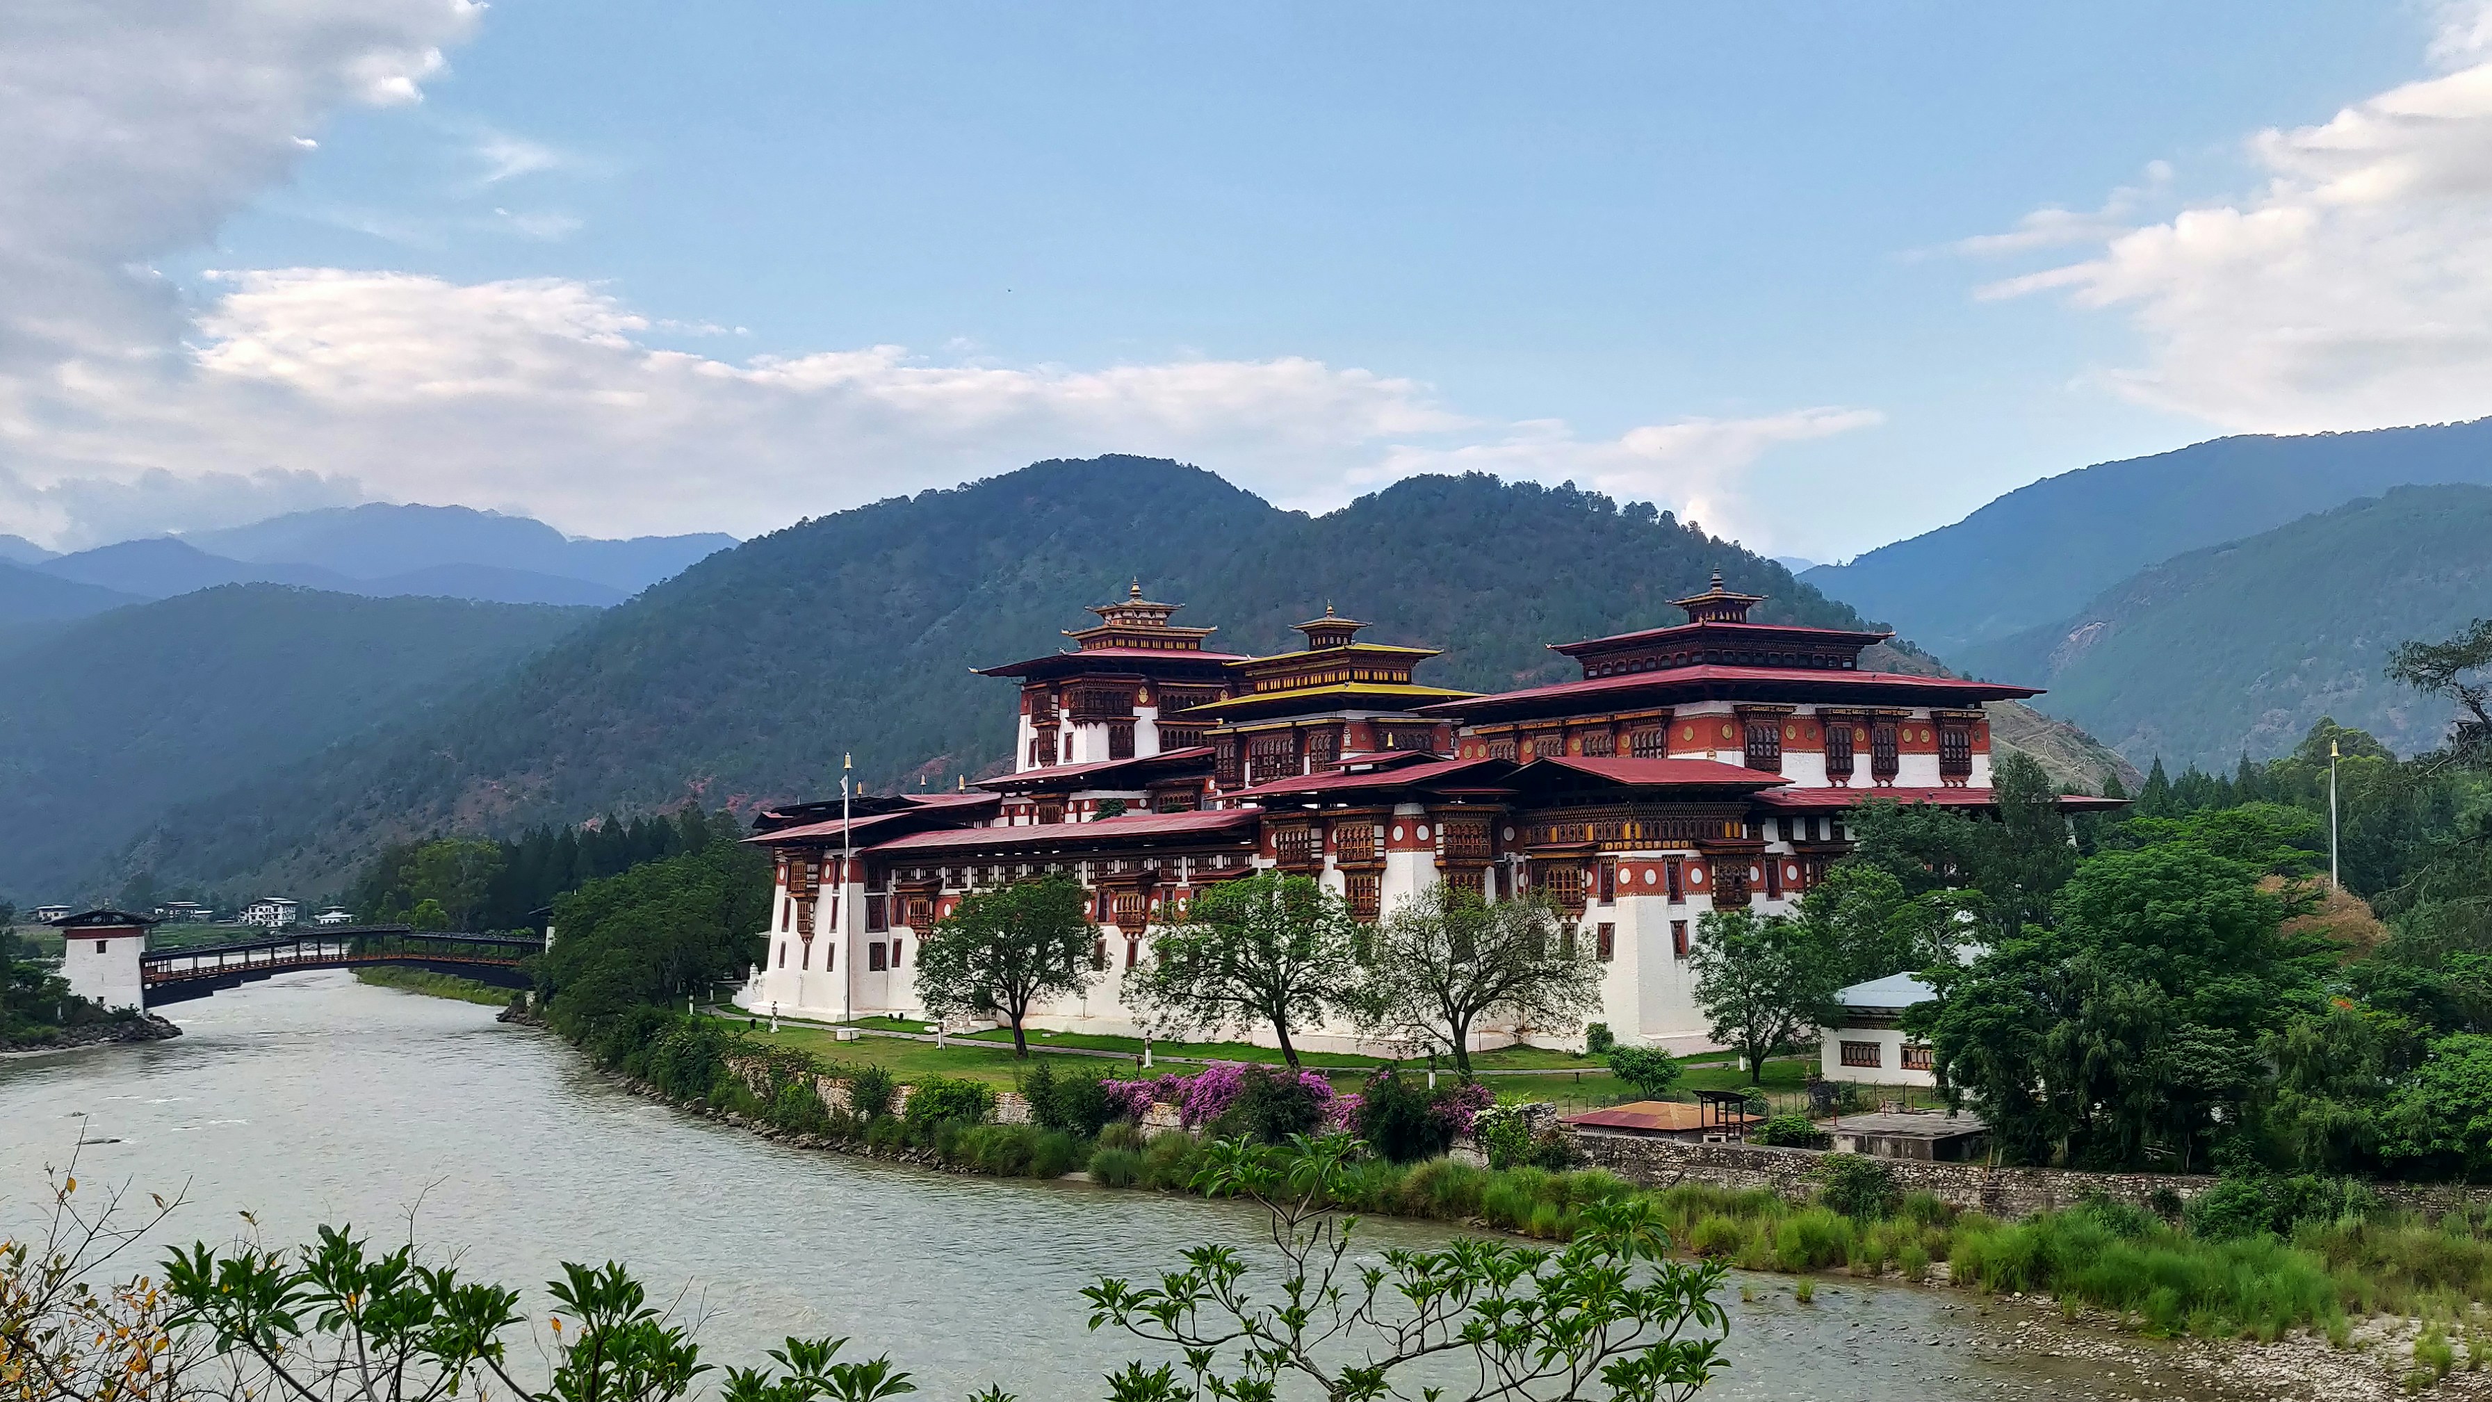
[[[1560,1250],[1455,1240],[1358,1260],[1358,1223],[1333,1205],[1356,1195],[1361,1148],[1211,1143],[1194,1185],[1266,1208],[1283,1277],[1248,1290],[1229,1245],[1191,1248],[1146,1285],[1099,1277],[1082,1290],[1091,1327],[1179,1350],[1186,1370],[1136,1360],[1109,1375],[1111,1397],[1450,1397],[1405,1377],[1425,1370],[1463,1377],[1463,1397],[1687,1402],[1722,1367],[1727,1265],[1672,1260],[1647,1198],[1585,1203]]]

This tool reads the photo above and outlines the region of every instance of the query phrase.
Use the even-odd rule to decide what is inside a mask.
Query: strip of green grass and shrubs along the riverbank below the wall
[[[992,1098],[974,1083],[920,1083],[912,1113],[852,1116],[825,1103],[820,1078],[860,1086],[880,1068],[768,1048],[715,1019],[638,1009],[586,1038],[586,1051],[655,1091],[787,1133],[862,1150],[915,1153],[962,1173],[1062,1178],[1087,1168],[1109,1188],[1186,1190],[1209,1141],[1109,1123],[1096,1138],[1062,1128],[977,1123]],[[887,1096],[887,1093],[885,1093]],[[887,1098],[882,1101],[887,1106]],[[930,1116],[934,1103],[967,1106]],[[1981,1292],[2053,1295],[2153,1335],[2275,1340],[2295,1327],[2342,1337],[2350,1315],[2462,1317],[2492,1300],[2492,1215],[2425,1220],[2357,1198],[2335,1215],[2215,1238],[2111,1200],[2004,1223],[1929,1195],[1894,1195],[1874,1160],[1829,1155],[1829,1190],[1792,1203],[1769,1190],[1677,1185],[1645,1190],[1597,1168],[1475,1168],[1450,1158],[1351,1168],[1341,1208],[1483,1225],[1565,1240],[1582,1210],[1645,1198],[1680,1250],[1747,1270],[1944,1277]],[[1844,1208],[1844,1210],[1837,1210]]]

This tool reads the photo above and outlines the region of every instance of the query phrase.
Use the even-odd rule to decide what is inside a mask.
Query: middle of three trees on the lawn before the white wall
[[[1298,1066],[1288,1033],[1321,1023],[1356,984],[1358,931],[1351,906],[1306,877],[1221,882],[1126,969],[1124,999],[1169,1028],[1271,1026],[1281,1058]]]

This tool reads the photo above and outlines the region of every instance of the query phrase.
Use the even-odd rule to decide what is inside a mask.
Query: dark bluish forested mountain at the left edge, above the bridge
[[[351,752],[588,618],[222,585],[55,630],[7,657],[0,685],[0,892],[65,899],[167,804]]]

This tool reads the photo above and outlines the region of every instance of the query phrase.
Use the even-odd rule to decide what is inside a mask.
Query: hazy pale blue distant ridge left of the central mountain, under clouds
[[[635,595],[693,560],[735,545],[733,535],[718,533],[571,540],[526,515],[389,503],[297,510],[227,530],[192,530],[184,540],[232,560],[319,565],[356,580],[491,565],[588,580],[616,595]]]

